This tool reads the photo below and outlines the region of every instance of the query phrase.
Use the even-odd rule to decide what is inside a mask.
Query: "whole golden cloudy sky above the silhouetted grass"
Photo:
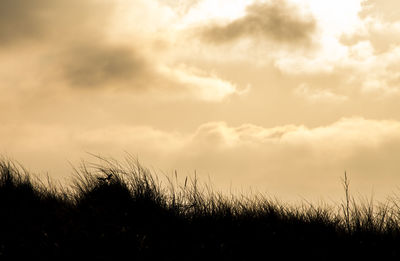
[[[0,154],[66,179],[134,155],[217,190],[400,184],[396,0],[2,0]]]

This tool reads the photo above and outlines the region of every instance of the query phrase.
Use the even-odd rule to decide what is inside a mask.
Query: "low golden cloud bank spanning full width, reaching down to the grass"
[[[378,198],[387,196],[395,189],[391,184],[400,181],[400,122],[394,120],[353,117],[314,128],[209,122],[194,132],[144,125],[85,128],[23,123],[18,128],[2,125],[0,134],[0,148],[7,155],[38,171],[54,169],[54,175],[70,173],[65,157],[77,162],[83,151],[112,156],[128,151],[162,171],[178,169],[186,175],[197,169],[201,180],[211,174],[218,187],[233,181],[234,187],[280,192],[272,194],[278,197],[341,195],[344,170],[350,173],[353,188],[358,182],[375,184]],[[370,192],[368,186],[361,188]]]

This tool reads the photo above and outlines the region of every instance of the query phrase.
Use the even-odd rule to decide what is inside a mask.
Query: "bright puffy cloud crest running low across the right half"
[[[225,122],[211,122],[200,126],[192,136],[192,141],[195,146],[204,143],[210,149],[215,145],[226,149],[254,145],[307,146],[317,151],[343,150],[344,154],[351,154],[357,147],[375,147],[385,141],[400,141],[399,130],[400,123],[397,121],[360,117],[343,118],[331,125],[316,128],[302,125],[263,128],[252,124],[229,127]],[[347,152],[344,149],[348,149]]]

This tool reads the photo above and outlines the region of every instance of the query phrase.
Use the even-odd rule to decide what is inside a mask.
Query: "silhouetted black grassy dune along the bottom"
[[[398,260],[400,205],[289,206],[223,195],[197,178],[162,185],[134,159],[74,170],[68,186],[0,161],[0,259]]]

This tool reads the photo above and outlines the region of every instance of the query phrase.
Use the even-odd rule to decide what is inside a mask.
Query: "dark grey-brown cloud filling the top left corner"
[[[1,0],[0,46],[93,35],[110,7],[94,0]]]

